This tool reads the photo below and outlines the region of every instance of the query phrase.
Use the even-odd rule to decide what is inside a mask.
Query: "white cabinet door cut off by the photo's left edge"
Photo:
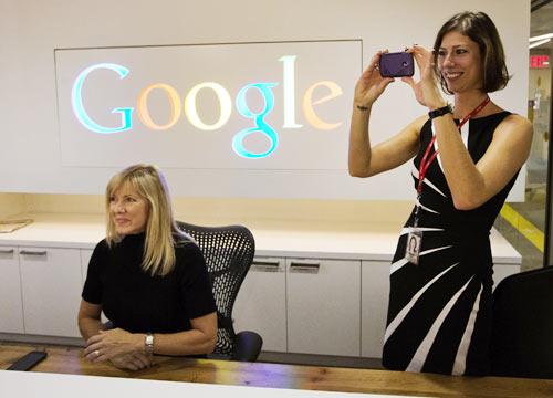
[[[0,247],[0,332],[24,333],[17,248]]]

